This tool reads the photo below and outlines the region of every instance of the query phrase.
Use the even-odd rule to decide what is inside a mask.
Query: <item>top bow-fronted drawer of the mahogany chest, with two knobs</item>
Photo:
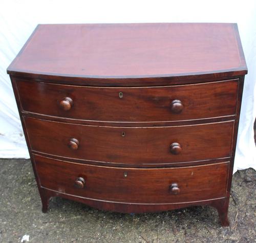
[[[159,122],[236,114],[238,79],[133,88],[16,83],[24,111],[62,118]]]

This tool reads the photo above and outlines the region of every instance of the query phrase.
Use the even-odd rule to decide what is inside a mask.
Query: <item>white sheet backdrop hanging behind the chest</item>
[[[234,172],[256,169],[256,1],[1,0],[0,7],[0,158],[29,158],[6,69],[37,24],[222,22],[238,23],[248,67]]]

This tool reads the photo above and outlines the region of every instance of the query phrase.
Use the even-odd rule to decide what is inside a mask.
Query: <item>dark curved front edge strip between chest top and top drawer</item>
[[[56,75],[42,75],[33,73],[7,72],[14,78],[33,79],[37,82],[47,82],[68,85],[104,86],[104,87],[136,87],[136,86],[163,86],[176,84],[193,84],[210,81],[221,81],[224,79],[236,79],[245,75],[245,71],[230,71],[227,73],[201,74],[189,76],[166,76],[150,78],[82,78]],[[247,73],[247,71],[246,71]]]

